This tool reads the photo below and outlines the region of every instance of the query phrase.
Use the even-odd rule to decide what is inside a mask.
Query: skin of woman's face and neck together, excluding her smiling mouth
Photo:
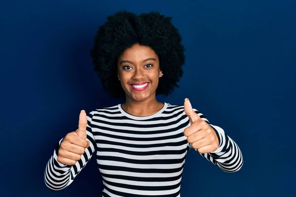
[[[123,51],[117,61],[117,76],[125,92],[121,105],[127,113],[135,116],[149,116],[163,107],[156,100],[156,88],[162,71],[157,54],[148,46],[135,44]],[[148,82],[144,91],[136,91],[133,83]]]

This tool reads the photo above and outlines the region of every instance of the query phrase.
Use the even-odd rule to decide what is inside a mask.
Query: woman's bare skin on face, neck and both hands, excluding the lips
[[[162,77],[157,54],[148,46],[135,44],[120,55],[117,64],[118,80],[126,95],[122,109],[134,116],[149,116],[158,112],[163,103],[156,100],[156,88]],[[132,89],[130,84],[141,82],[149,83],[146,90]],[[190,120],[190,126],[184,130],[184,135],[192,147],[199,153],[217,150],[219,139],[216,132],[193,111],[188,99],[185,99],[184,111]],[[74,165],[80,160],[85,149],[90,146],[86,127],[87,115],[81,110],[77,131],[68,133],[60,145],[58,162]]]

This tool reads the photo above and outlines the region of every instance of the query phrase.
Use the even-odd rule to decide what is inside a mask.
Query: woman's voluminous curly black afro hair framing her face
[[[183,76],[185,49],[171,19],[155,11],[140,15],[118,11],[107,17],[94,36],[90,55],[103,89],[111,98],[125,97],[117,78],[117,59],[136,43],[149,46],[158,55],[164,75],[159,78],[156,95],[168,96],[175,87],[179,88],[177,82]]]

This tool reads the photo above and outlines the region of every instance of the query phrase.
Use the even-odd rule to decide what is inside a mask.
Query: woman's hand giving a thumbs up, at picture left
[[[65,165],[74,165],[84,154],[90,142],[86,139],[87,116],[84,110],[79,115],[77,131],[68,133],[60,144],[58,162]]]

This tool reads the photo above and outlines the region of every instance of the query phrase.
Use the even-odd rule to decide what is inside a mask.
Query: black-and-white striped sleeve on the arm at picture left
[[[81,159],[74,165],[65,165],[58,162],[58,150],[63,138],[57,143],[53,155],[50,157],[46,164],[44,172],[45,185],[52,191],[62,190],[69,186],[79,172],[85,167],[85,165],[91,159],[94,151],[96,150],[96,142],[90,122],[94,112],[87,115],[87,140],[90,141],[90,146],[85,149],[85,153],[81,156]]]

